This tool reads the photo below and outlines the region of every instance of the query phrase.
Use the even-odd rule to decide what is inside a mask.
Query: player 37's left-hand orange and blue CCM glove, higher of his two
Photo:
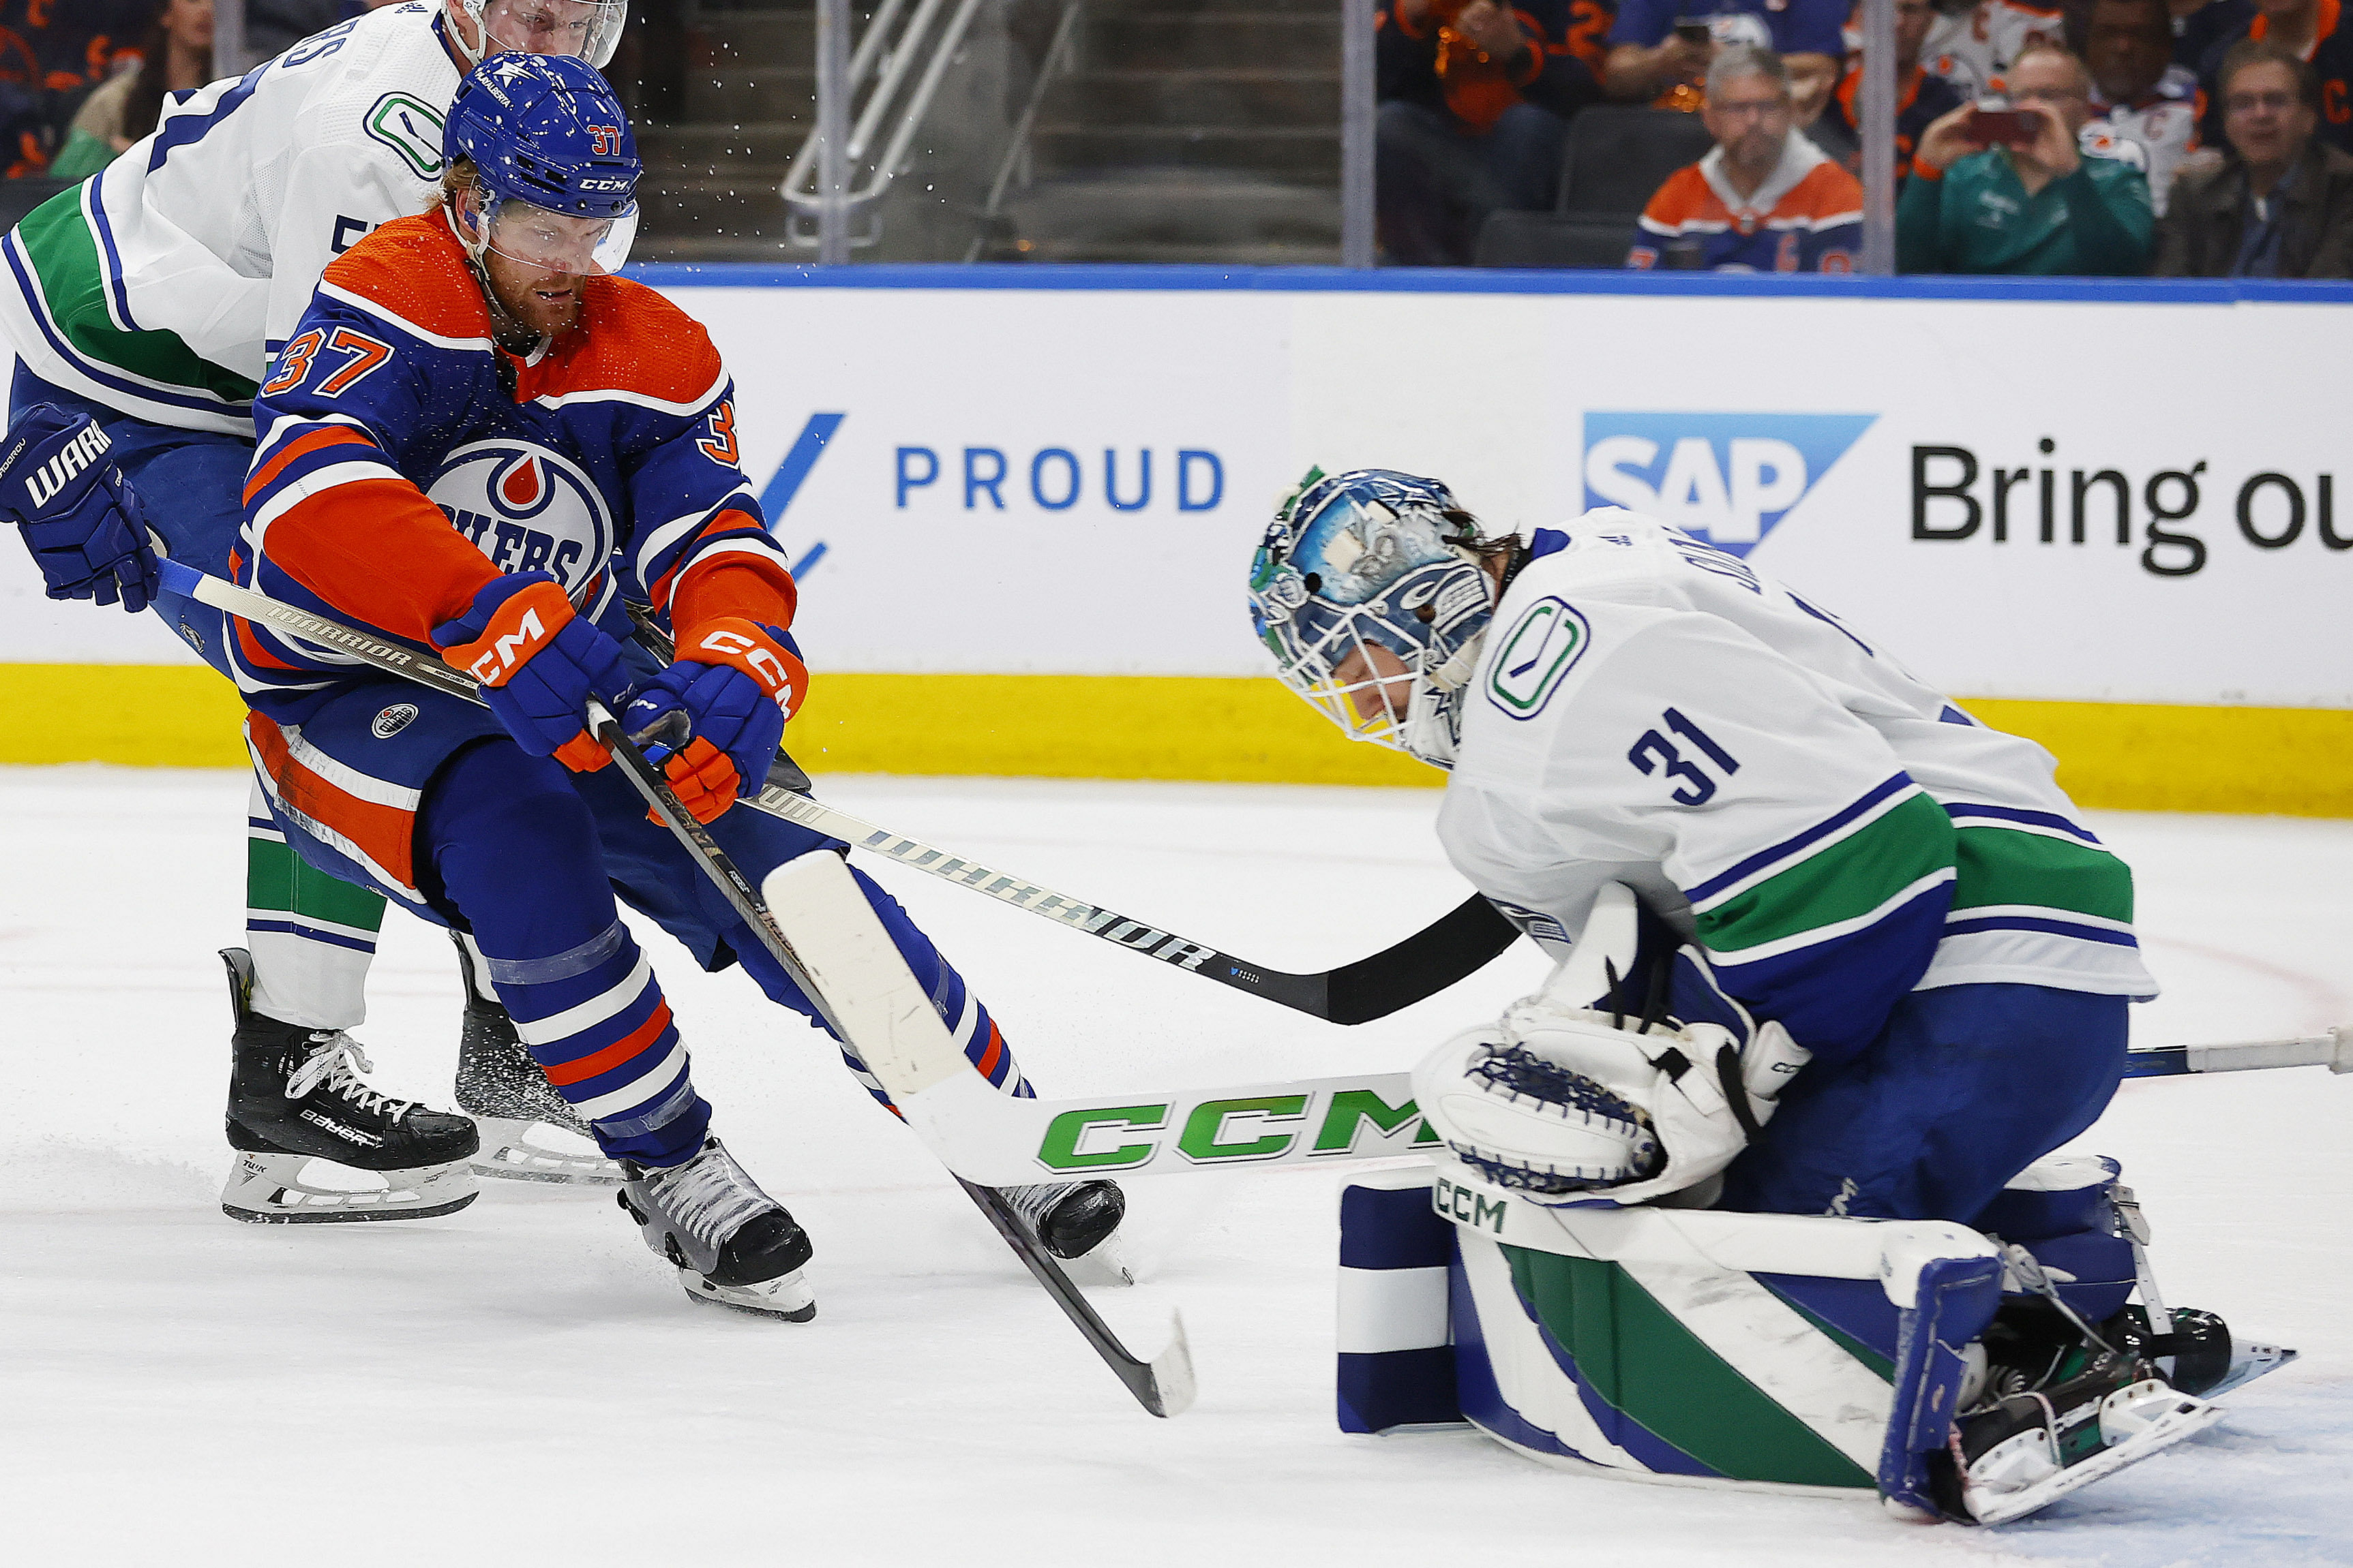
[[[555,757],[574,773],[612,762],[588,733],[588,698],[621,703],[628,668],[621,644],[572,614],[572,599],[546,571],[492,578],[473,609],[433,628],[433,646],[482,686],[515,745]]]

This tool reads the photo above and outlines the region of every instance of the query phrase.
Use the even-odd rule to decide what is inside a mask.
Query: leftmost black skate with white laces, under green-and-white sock
[[[475,1199],[466,1159],[473,1121],[414,1100],[376,1093],[360,1044],[341,1030],[306,1030],[252,1009],[254,959],[221,950],[231,1039],[228,1147],[238,1164],[221,1187],[221,1213],[256,1225],[339,1220],[426,1220]],[[304,1166],[327,1161],[381,1178],[381,1187],[313,1187]]]

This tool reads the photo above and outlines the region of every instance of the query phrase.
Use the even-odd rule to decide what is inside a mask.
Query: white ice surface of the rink
[[[1461,898],[1435,795],[831,778],[849,811],[1287,969]],[[1134,1349],[1184,1307],[1200,1403],[1127,1399],[824,1037],[647,950],[718,1128],[816,1237],[819,1316],[687,1302],[609,1194],[445,1220],[221,1218],[245,780],[0,769],[0,1540],[19,1563],[2231,1563],[2353,1561],[2353,1079],[2127,1084],[2177,1305],[2304,1361],[2231,1420],[2005,1530],[1539,1469],[1332,1422],[1329,1171],[1132,1182]],[[2353,1023],[2353,823],[2097,816],[2167,985],[2137,1039]],[[1339,1030],[892,865],[1049,1093],[1407,1067],[1541,971]],[[449,1103],[447,940],[388,914],[374,1079]]]

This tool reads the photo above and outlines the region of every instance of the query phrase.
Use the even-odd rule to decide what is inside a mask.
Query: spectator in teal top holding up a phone
[[[2033,115],[2026,141],[1993,143],[1967,103],[1927,127],[1897,200],[1904,273],[2134,277],[2148,270],[2148,176],[2085,158],[2092,80],[2059,45],[2009,66],[2009,103]],[[1991,122],[1988,122],[1991,125]],[[1984,148],[1984,150],[1979,150]]]

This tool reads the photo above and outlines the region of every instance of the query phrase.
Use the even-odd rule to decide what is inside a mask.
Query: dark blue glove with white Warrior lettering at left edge
[[[87,414],[35,402],[7,430],[0,515],[24,529],[52,599],[120,599],[139,614],[155,597],[155,548],[111,447]]]

